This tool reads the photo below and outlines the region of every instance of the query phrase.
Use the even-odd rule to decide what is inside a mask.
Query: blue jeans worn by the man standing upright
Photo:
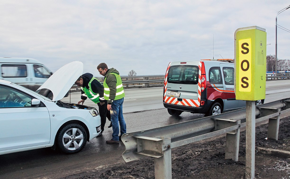
[[[113,128],[112,139],[119,141],[119,124],[121,136],[126,133],[126,123],[123,117],[123,102],[124,98],[114,100],[112,103],[111,123]]]

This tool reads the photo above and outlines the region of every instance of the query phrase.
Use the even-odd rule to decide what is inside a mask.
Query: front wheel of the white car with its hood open
[[[68,124],[62,127],[57,135],[57,147],[66,154],[74,154],[81,151],[86,142],[86,130],[79,124]]]

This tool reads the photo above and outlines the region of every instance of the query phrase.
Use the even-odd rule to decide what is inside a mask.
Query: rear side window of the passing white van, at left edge
[[[26,65],[1,65],[3,77],[27,77]]]

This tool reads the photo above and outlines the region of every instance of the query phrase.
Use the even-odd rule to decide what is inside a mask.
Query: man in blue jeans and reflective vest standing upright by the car
[[[100,63],[97,67],[99,73],[105,76],[104,98],[108,101],[107,109],[111,113],[111,123],[113,128],[112,139],[107,140],[108,144],[119,144],[121,136],[126,133],[126,123],[123,117],[124,89],[120,74],[114,68],[108,69],[106,63]],[[119,136],[120,124],[120,136]]]

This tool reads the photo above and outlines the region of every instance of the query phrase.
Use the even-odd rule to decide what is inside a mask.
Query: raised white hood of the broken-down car
[[[61,100],[83,74],[83,69],[84,64],[80,61],[68,63],[52,74],[37,91],[49,89],[53,94],[52,101]]]

